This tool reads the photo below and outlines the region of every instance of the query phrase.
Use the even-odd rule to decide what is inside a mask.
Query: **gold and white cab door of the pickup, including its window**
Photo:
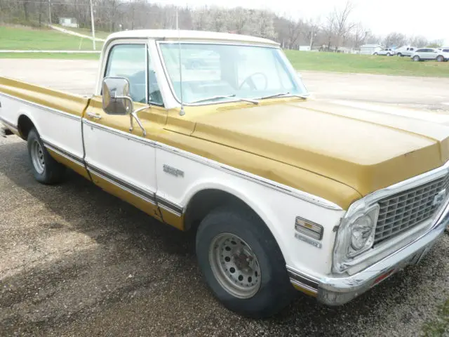
[[[135,108],[149,103],[149,55],[145,41],[123,41],[109,46],[105,54],[105,77],[126,77]],[[100,75],[101,76],[101,75]],[[155,144],[151,136],[163,126],[162,109],[139,112],[147,135],[129,115],[107,114],[102,96],[91,100],[83,116],[86,166],[95,184],[156,218]],[[164,112],[165,113],[165,112]]]

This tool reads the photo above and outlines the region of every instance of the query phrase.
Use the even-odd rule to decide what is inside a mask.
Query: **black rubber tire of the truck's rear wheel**
[[[65,176],[65,166],[55,161],[53,157],[48,153],[46,148],[43,146],[43,142],[39,137],[39,133],[35,128],[32,128],[28,133],[28,157],[29,162],[31,164],[31,169],[34,178],[39,181],[39,183],[43,184],[55,184],[60,183]],[[41,158],[43,159],[43,169],[41,170],[36,166],[33,161],[33,148],[37,147],[37,144],[40,146],[41,150]]]

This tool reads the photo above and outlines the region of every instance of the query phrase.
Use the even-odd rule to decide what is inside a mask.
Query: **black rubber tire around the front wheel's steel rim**
[[[211,244],[217,236],[227,233],[243,239],[258,261],[260,288],[252,297],[239,298],[227,291],[211,267]],[[201,221],[196,233],[196,256],[213,295],[225,308],[239,315],[270,317],[285,308],[297,294],[288,278],[286,263],[276,240],[252,211],[225,206],[209,213]]]

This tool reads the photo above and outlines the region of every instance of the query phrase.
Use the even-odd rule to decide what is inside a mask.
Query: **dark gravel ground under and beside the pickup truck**
[[[347,305],[298,293],[272,319],[239,317],[199,276],[192,234],[72,172],[36,183],[15,136],[0,138],[0,256],[0,336],[419,336],[449,298],[445,234]]]

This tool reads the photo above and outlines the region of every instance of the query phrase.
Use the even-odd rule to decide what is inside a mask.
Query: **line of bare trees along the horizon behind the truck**
[[[174,29],[175,6],[153,4],[147,0],[93,0],[95,28],[116,32],[124,29]],[[363,44],[384,46],[438,45],[424,37],[406,37],[392,32],[387,37],[373,34],[362,22],[354,22],[354,5],[348,1],[316,20],[293,18],[288,13],[219,6],[180,7],[180,29],[250,34],[278,41],[283,48],[309,46],[322,51],[341,47],[358,48]],[[0,23],[44,26],[59,18],[75,18],[79,27],[91,28],[89,0],[0,0]]]

